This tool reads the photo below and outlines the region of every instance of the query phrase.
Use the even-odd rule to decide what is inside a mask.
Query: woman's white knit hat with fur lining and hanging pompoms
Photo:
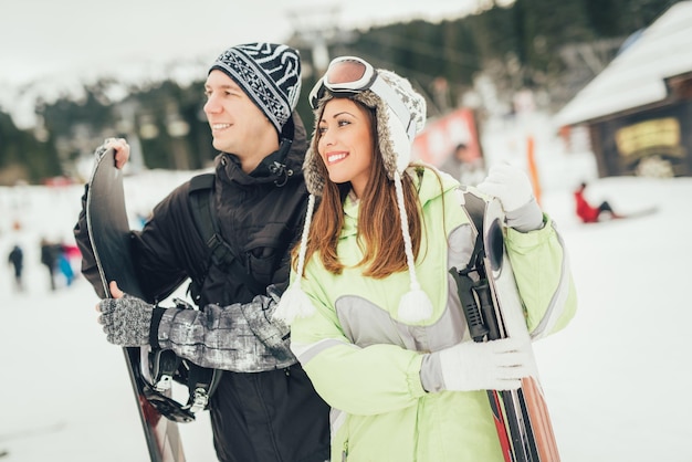
[[[420,322],[430,317],[432,314],[432,304],[428,295],[420,287],[416,275],[416,262],[409,234],[408,218],[403,204],[401,175],[405,175],[405,170],[409,165],[413,138],[422,130],[426,123],[426,99],[412,88],[408,80],[391,71],[377,70],[377,73],[378,76],[394,90],[388,101],[385,101],[371,90],[363,91],[349,97],[375,109],[379,150],[382,156],[387,176],[395,182],[401,233],[403,235],[410,276],[410,291],[403,294],[399,302],[398,316],[405,322]],[[311,195],[307,202],[307,214],[298,252],[297,276],[282,296],[279,307],[274,313],[276,318],[286,323],[291,323],[295,317],[310,316],[314,312],[312,302],[301,290],[301,280],[305,265],[305,249],[307,246],[307,237],[310,234],[310,225],[315,207],[315,196],[322,196],[325,185],[325,178],[322,177],[317,168],[319,154],[316,151],[316,134],[324,106],[326,102],[333,97],[332,94],[326,92],[319,101],[317,108],[314,111],[315,132],[313,132],[313,139],[303,164],[305,183]],[[402,108],[403,111],[401,111]],[[402,113],[408,113],[408,120],[401,119],[399,115]]]

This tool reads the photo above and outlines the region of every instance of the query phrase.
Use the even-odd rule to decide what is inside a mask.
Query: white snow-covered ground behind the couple
[[[579,294],[573,323],[535,344],[563,462],[692,461],[692,178],[595,179],[588,158],[546,156],[542,203],[568,245]],[[146,212],[189,175],[128,177],[129,211]],[[593,201],[659,211],[580,224],[570,191],[583,178],[593,179]],[[96,324],[92,287],[78,279],[51,292],[39,262],[41,237],[72,239],[81,191],[0,188],[0,256],[22,244],[30,286],[15,293],[0,265],[2,462],[147,460],[123,354]],[[188,461],[216,460],[207,413],[181,432]]]

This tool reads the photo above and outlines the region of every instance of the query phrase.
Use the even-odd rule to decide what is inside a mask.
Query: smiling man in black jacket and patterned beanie
[[[188,181],[154,209],[140,232],[132,232],[133,259],[149,303],[203,273],[196,298],[201,309],[155,308],[125,295],[101,302],[99,322],[117,345],[154,343],[196,365],[223,369],[210,402],[220,461],[324,461],[328,407],[291,354],[286,327],[271,322],[289,283],[289,253],[307,200],[305,128],[294,112],[298,53],[270,43],[231,46],[212,64],[205,88],[205,113],[221,151],[211,201],[232,264],[213,259],[207,267],[208,249],[196,229]],[[116,149],[122,168],[129,147],[123,139],[107,147]],[[75,237],[83,273],[101,291],[84,213]],[[112,292],[122,295],[114,283]],[[146,322],[128,324],[126,313],[137,308]]]

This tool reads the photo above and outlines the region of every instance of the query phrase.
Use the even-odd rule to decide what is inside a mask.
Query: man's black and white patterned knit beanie
[[[301,95],[297,50],[274,43],[247,43],[226,50],[209,72],[224,72],[281,133]]]

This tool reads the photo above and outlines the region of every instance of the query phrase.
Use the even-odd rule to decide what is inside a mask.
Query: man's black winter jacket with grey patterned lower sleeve
[[[287,286],[290,249],[300,239],[307,202],[302,172],[306,134],[296,113],[284,134],[280,149],[250,175],[233,155],[222,153],[214,161],[213,200],[221,234],[251,276],[279,293]],[[143,230],[132,232],[133,261],[149,303],[162,301],[189,276],[205,272],[207,246],[193,222],[189,188],[189,181],[176,188],[156,206]],[[83,255],[82,273],[103,297],[83,211],[74,233]],[[227,369],[210,407],[219,460],[324,461],[328,459],[328,407],[300,364],[281,367],[285,363],[277,360],[274,370],[247,372],[253,358],[233,356],[242,349],[237,348],[242,343],[234,334],[242,324],[237,315],[266,309],[276,300],[271,294],[253,293],[212,264],[201,290],[199,306],[205,309],[167,309],[159,343],[200,366]],[[232,304],[241,304],[242,309],[222,308]],[[177,328],[181,324],[186,327]]]

